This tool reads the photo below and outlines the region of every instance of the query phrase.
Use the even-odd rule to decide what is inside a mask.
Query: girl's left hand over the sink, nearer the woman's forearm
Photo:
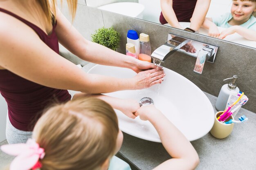
[[[139,109],[139,102],[134,99],[122,99],[119,107],[118,110],[123,112],[126,116],[135,119],[135,112]]]

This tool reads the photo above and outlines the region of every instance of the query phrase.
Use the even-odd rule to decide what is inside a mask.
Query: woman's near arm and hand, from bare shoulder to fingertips
[[[85,93],[132,90],[162,82],[163,71],[155,69],[130,79],[87,74],[50,49],[29,26],[5,17],[8,22],[0,24],[0,66],[32,82]]]

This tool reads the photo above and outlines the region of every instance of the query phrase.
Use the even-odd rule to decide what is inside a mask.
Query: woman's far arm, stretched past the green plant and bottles
[[[96,64],[130,68],[135,72],[155,68],[149,62],[137,60],[100,44],[90,42],[72,26],[59,9],[56,9],[56,34],[59,42],[74,55]]]

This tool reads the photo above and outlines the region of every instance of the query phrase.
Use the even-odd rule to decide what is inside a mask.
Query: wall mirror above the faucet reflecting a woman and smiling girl
[[[88,6],[256,48],[256,0],[85,1]]]

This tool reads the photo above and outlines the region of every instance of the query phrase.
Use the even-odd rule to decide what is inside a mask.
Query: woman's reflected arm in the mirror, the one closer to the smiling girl
[[[197,31],[202,23],[204,22],[204,18],[208,12],[211,0],[198,0],[195,5],[195,9],[190,19],[190,28]]]

